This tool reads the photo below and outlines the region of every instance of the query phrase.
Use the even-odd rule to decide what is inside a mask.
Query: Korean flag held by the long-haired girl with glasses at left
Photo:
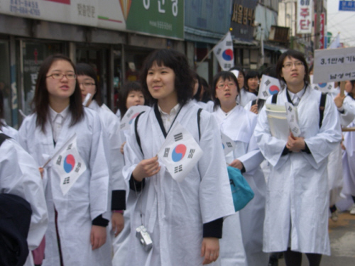
[[[53,169],[60,177],[60,189],[67,194],[87,167],[77,151],[77,135],[74,134],[53,157]]]

